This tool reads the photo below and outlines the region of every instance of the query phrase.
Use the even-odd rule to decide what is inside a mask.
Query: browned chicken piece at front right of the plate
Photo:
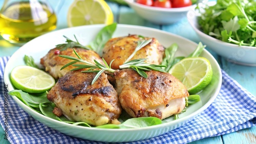
[[[116,90],[121,107],[132,117],[160,119],[180,113],[185,107],[186,87],[174,76],[146,71],[148,78],[133,69],[116,70]]]

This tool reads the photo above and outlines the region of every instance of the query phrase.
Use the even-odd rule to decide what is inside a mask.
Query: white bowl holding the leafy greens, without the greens
[[[214,2],[215,3],[215,2]],[[212,5],[212,3],[210,4]],[[239,46],[228,42],[221,41],[203,33],[198,25],[200,15],[193,10],[187,12],[187,19],[192,28],[196,31],[203,44],[209,49],[223,56],[227,61],[247,66],[256,66],[256,47]]]

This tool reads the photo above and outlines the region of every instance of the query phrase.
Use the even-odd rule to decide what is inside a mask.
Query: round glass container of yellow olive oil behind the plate
[[[25,43],[54,30],[56,22],[56,14],[47,3],[37,0],[5,3],[0,11],[0,34],[11,43]]]

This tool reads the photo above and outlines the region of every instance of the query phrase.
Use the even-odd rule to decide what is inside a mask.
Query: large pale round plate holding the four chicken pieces
[[[20,47],[20,49],[18,49],[12,55],[5,68],[4,81],[6,84],[9,85],[8,90],[11,91],[14,89],[9,79],[10,72],[17,65],[25,65],[23,61],[24,55],[32,56],[35,59],[35,62],[39,64],[40,58],[45,56],[50,49],[53,49],[56,44],[65,42],[65,39],[62,35],[73,38],[75,34],[85,44],[88,44],[96,36],[99,30],[103,28],[103,26],[104,25],[91,25],[58,30],[39,36],[26,43],[24,46]],[[160,43],[162,43],[166,47],[176,42],[180,46],[177,51],[177,55],[180,56],[187,56],[197,47],[197,43],[182,38],[180,36],[173,35],[157,29],[140,26],[118,24],[118,27],[113,37],[127,36],[128,34],[138,34],[142,36],[155,37],[160,41]],[[123,142],[147,139],[164,134],[182,126],[189,119],[193,118],[194,116],[205,110],[217,97],[222,82],[221,69],[215,58],[212,57],[209,52],[204,50],[202,56],[210,61],[214,72],[214,77],[209,86],[200,93],[201,101],[196,104],[190,105],[185,113],[179,114],[180,118],[176,121],[172,120],[173,117],[169,117],[164,119],[163,124],[161,125],[144,127],[139,129],[98,129],[74,126],[71,124],[56,121],[55,119],[39,114],[36,111],[30,109],[16,97],[12,98],[20,107],[22,107],[27,113],[33,116],[40,123],[45,124],[48,127],[51,127],[61,133],[70,136],[105,142]]]

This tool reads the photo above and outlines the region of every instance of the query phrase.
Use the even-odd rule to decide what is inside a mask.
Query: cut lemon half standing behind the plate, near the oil
[[[114,22],[109,5],[103,0],[75,0],[69,7],[68,26],[76,27]]]

